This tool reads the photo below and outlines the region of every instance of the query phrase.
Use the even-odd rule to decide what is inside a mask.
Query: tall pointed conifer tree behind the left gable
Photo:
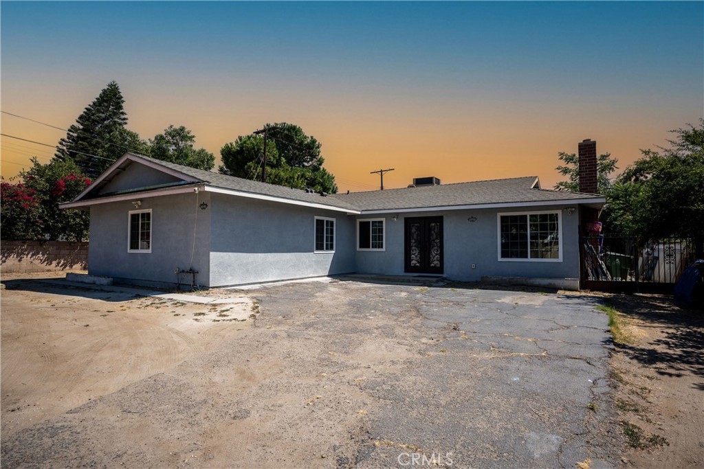
[[[68,128],[56,147],[56,158],[72,161],[82,174],[95,177],[128,151],[144,153],[146,142],[127,130],[120,86],[108,83]]]

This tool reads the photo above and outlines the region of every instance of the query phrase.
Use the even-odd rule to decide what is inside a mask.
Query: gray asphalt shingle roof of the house
[[[458,205],[484,205],[505,203],[555,202],[572,200],[579,202],[603,196],[587,193],[570,193],[532,188],[536,176],[512,179],[492,179],[439,186],[418,186],[384,191],[356,192],[347,194],[307,193],[275,184],[266,184],[234,176],[227,176],[203,169],[177,165],[142,155],[134,155],[163,167],[180,172],[210,186],[232,189],[246,193],[269,195],[275,198],[298,200],[337,207],[344,210],[404,210],[414,208],[453,207]]]

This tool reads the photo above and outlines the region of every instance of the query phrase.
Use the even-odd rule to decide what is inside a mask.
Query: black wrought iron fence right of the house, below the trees
[[[582,238],[582,258],[586,281],[673,284],[694,262],[695,246],[678,238],[588,236]]]

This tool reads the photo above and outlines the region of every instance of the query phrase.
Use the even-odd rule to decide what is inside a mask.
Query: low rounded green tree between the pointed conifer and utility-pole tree
[[[163,134],[157,134],[149,142],[149,156],[157,160],[190,166],[210,171],[215,166],[215,155],[205,148],[196,148],[196,136],[184,126],[170,125]]]

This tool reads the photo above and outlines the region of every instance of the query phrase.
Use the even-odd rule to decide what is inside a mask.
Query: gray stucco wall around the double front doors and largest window
[[[497,214],[536,210],[561,212],[562,262],[498,260]],[[579,278],[577,213],[567,215],[562,207],[558,206],[538,207],[536,210],[485,209],[401,213],[397,221],[391,219],[391,215],[358,215],[358,219],[386,219],[386,250],[356,251],[356,271],[365,274],[404,274],[404,217],[443,216],[444,276],[447,278],[457,281],[479,281],[482,276]],[[476,217],[477,221],[467,221],[470,216]],[[354,248],[356,249],[356,243]]]

